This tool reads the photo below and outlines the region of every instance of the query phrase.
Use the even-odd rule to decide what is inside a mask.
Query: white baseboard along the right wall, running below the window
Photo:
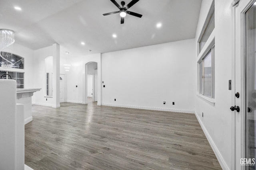
[[[211,147],[212,147],[212,150],[214,151],[219,163],[220,163],[220,166],[223,170],[229,170],[228,168],[228,165],[226,164],[225,160],[222,158],[221,154],[220,154],[220,151],[218,150],[218,148],[216,147],[214,141],[212,140],[212,137],[210,136],[210,134],[208,133],[206,127],[204,126],[204,123],[202,122],[202,120],[200,119],[200,117],[198,116],[197,113],[195,113],[196,115],[196,118],[198,120],[198,122],[200,123],[203,131],[204,131],[204,134],[208,140],[208,142],[210,143]]]

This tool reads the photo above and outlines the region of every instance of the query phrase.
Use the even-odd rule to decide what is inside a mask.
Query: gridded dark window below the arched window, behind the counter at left
[[[11,77],[13,80],[16,80],[17,88],[24,88],[24,72],[0,71],[0,77],[1,76],[2,79],[10,79]]]

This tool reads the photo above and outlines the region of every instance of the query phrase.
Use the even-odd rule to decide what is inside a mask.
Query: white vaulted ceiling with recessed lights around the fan
[[[129,11],[142,18],[127,15],[120,24],[119,14],[102,15],[119,10],[110,0],[0,0],[0,29],[33,50],[58,43],[73,55],[106,53],[194,38],[201,2],[140,0]]]

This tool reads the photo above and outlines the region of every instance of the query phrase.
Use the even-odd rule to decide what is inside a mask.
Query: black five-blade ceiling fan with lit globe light
[[[137,14],[135,12],[131,12],[131,11],[127,11],[129,8],[131,8],[134,4],[136,4],[139,0],[132,0],[128,5],[126,5],[126,7],[124,7],[125,5],[125,2],[122,1],[121,2],[121,5],[123,7],[121,7],[115,0],[110,0],[111,2],[113,2],[113,4],[115,4],[117,6],[117,8],[119,8],[120,10],[119,11],[116,11],[116,12],[109,12],[109,13],[106,13],[106,14],[103,14],[104,16],[108,16],[108,15],[111,15],[111,14],[117,14],[117,13],[120,13],[120,16],[121,16],[121,24],[124,23],[124,17],[126,16],[126,14],[130,14],[132,16],[136,16],[136,17],[139,17],[141,18],[142,15],[141,14]]]

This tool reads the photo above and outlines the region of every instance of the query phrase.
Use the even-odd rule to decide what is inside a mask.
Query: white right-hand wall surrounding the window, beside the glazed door
[[[232,0],[215,0],[215,106],[196,97],[195,112],[223,169],[231,168]],[[196,32],[198,41],[212,0],[203,0]],[[195,63],[196,64],[196,63]],[[196,81],[196,80],[195,80]],[[202,117],[202,112],[204,117]]]

